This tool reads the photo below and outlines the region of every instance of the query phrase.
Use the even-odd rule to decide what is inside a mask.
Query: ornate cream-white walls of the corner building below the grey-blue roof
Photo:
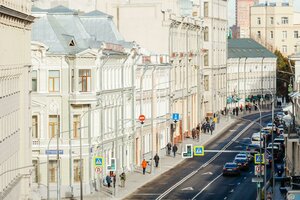
[[[98,55],[96,50],[83,51],[71,57],[51,55],[47,54],[46,49],[47,47],[41,43],[34,42],[32,45],[33,70],[37,73],[37,89],[32,95],[33,121],[34,117],[37,118],[37,124],[34,126],[37,136],[33,138],[32,159],[34,163],[47,163],[46,151],[52,150],[54,154],[49,155],[49,170],[47,164],[35,170],[33,186],[40,194],[36,198],[47,197],[47,188],[43,186],[47,185],[48,172],[50,197],[54,198],[57,194],[57,178],[51,180],[51,175],[57,177],[55,167],[51,165],[51,162],[56,161],[57,149],[57,137],[51,135],[51,127],[57,129],[57,115],[60,124],[59,149],[62,150],[60,194],[62,197],[71,193],[79,196],[80,127],[82,127],[83,193],[89,194],[95,189],[90,187],[90,184],[95,182],[99,186],[101,178],[108,173],[106,166],[109,165],[111,158],[116,158],[117,173],[133,169],[134,60],[131,57],[126,60],[125,54],[111,55],[107,59],[103,55]],[[104,60],[106,62],[102,66]],[[56,80],[59,81],[59,90],[56,92],[51,92],[49,79],[51,70],[59,70],[60,74]],[[86,92],[81,91],[80,70],[90,70],[88,81],[90,87]],[[51,123],[54,123],[54,126]],[[100,175],[95,173],[92,160],[94,156],[102,156],[106,163]]]

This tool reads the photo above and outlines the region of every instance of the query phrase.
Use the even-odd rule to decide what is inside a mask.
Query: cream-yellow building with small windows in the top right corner
[[[293,6],[281,5],[251,7],[251,38],[271,51],[278,49],[289,56],[297,52],[300,24],[294,23]],[[284,17],[288,22],[284,22]]]

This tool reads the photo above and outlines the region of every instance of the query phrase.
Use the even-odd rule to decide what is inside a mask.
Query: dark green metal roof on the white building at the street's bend
[[[228,58],[276,58],[276,56],[257,43],[245,39],[228,39]]]

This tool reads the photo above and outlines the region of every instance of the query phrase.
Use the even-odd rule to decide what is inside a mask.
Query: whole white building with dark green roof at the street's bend
[[[227,95],[229,107],[268,102],[276,95],[276,56],[252,39],[228,40]],[[237,101],[239,103],[234,103]]]

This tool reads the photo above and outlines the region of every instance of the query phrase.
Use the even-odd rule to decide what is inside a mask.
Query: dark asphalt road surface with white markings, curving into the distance
[[[265,113],[266,114],[266,113]],[[264,114],[263,114],[264,115]],[[245,119],[253,120],[259,115],[251,115]],[[263,118],[262,123],[271,121],[271,116]],[[259,121],[258,121],[259,122]],[[241,138],[251,137],[252,133],[259,131],[258,125],[249,127],[236,141],[232,141],[250,122],[240,121],[231,126],[224,134],[220,135],[205,149],[241,150],[238,141]],[[232,143],[232,144],[230,144]],[[230,144],[230,145],[229,145]],[[239,177],[223,177],[222,168],[226,162],[231,162],[237,153],[205,153],[203,157],[187,159],[170,171],[149,182],[126,199],[157,199],[165,193],[162,199],[201,199],[201,200],[226,200],[226,199],[256,199],[256,184],[252,183],[254,177],[254,166],[250,170],[242,172]],[[215,158],[215,159],[213,159]],[[207,163],[211,161],[210,163]],[[188,179],[185,178],[192,174]],[[182,179],[186,179],[182,181]],[[174,186],[175,184],[176,187]],[[171,188],[171,189],[170,189]]]

